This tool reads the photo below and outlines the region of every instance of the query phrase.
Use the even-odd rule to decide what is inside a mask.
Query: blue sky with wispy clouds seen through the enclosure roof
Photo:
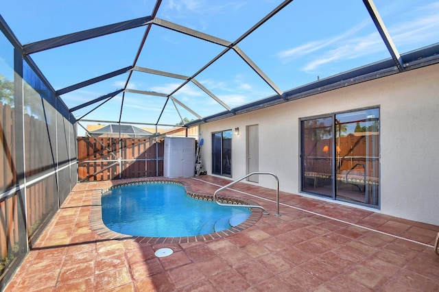
[[[157,17],[230,42],[244,34],[282,1],[163,0]],[[149,16],[156,1],[5,1],[0,14],[22,44]],[[439,1],[375,0],[399,53],[439,42]],[[32,58],[56,90],[130,66],[145,27],[131,29],[56,49]],[[296,0],[238,44],[281,90],[319,77],[390,58],[362,1]],[[191,76],[224,47],[152,26],[137,66]],[[0,69],[1,69],[0,61]],[[128,74],[113,77],[66,95],[78,106],[119,88]],[[229,51],[195,79],[230,108],[275,92],[235,53]],[[169,94],[182,80],[134,72],[128,88]],[[201,117],[225,110],[194,84],[174,95]],[[121,121],[156,123],[166,99],[126,93]],[[85,119],[118,121],[121,95]],[[74,112],[82,117],[94,106]],[[175,124],[196,117],[168,102],[159,123]]]

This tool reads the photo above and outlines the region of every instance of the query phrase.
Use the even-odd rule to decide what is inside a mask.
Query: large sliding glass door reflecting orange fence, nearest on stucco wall
[[[379,206],[379,109],[303,119],[302,191]]]

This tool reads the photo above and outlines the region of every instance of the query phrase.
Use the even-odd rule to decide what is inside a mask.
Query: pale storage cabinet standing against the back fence
[[[165,137],[163,176],[190,178],[195,174],[195,138]]]

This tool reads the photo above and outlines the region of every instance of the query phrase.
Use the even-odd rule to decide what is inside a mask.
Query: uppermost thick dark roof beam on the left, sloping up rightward
[[[132,29],[147,25],[151,21],[151,16],[141,17],[139,19],[132,19],[130,21],[122,21],[120,23],[113,23],[111,25],[104,25],[102,27],[95,27],[86,29],[82,32],[74,32],[73,34],[64,34],[64,36],[57,36],[55,38],[48,38],[47,40],[40,40],[38,42],[31,42],[23,45],[23,53],[25,55],[36,53],[38,51],[45,51],[47,49],[54,49],[64,45],[69,45],[74,42],[97,38],[98,36],[105,36],[107,34],[114,34],[123,30]]]

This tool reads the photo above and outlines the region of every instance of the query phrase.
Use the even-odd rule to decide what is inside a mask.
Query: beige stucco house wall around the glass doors
[[[332,90],[206,123],[202,159],[211,174],[211,132],[233,136],[233,179],[246,175],[246,126],[259,125],[259,171],[276,173],[281,191],[300,193],[299,119],[380,108],[381,206],[378,212],[439,225],[439,65]],[[274,188],[274,178],[259,185]]]

